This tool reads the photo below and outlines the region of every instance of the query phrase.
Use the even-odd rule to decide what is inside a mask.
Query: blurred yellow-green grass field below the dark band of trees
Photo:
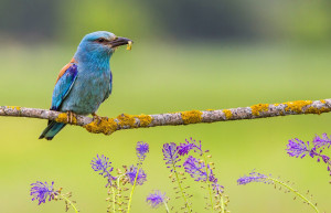
[[[0,50],[0,105],[49,108],[60,68],[74,54],[74,46],[3,46]],[[159,114],[191,109],[220,109],[259,103],[328,98],[330,46],[265,44],[135,43],[131,52],[118,50],[110,66],[114,89],[98,110],[102,116]],[[0,118],[0,212],[57,213],[63,203],[38,206],[29,195],[30,183],[55,181],[72,191],[81,212],[106,212],[105,180],[90,169],[97,153],[115,167],[136,162],[137,141],[150,143],[145,162],[148,182],[138,187],[132,212],[152,212],[146,195],[160,189],[179,206],[162,160],[164,142],[183,142],[193,137],[210,149],[216,177],[229,195],[232,212],[312,212],[292,194],[271,185],[237,185],[236,180],[256,169],[293,181],[309,190],[320,211],[330,211],[329,175],[323,163],[295,159],[286,153],[288,139],[311,140],[330,134],[331,115],[323,114],[201,124],[179,127],[122,130],[113,136],[92,135],[66,127],[52,141],[39,140],[46,121]],[[206,191],[190,180],[195,212],[204,212]],[[153,212],[164,212],[162,207]]]

